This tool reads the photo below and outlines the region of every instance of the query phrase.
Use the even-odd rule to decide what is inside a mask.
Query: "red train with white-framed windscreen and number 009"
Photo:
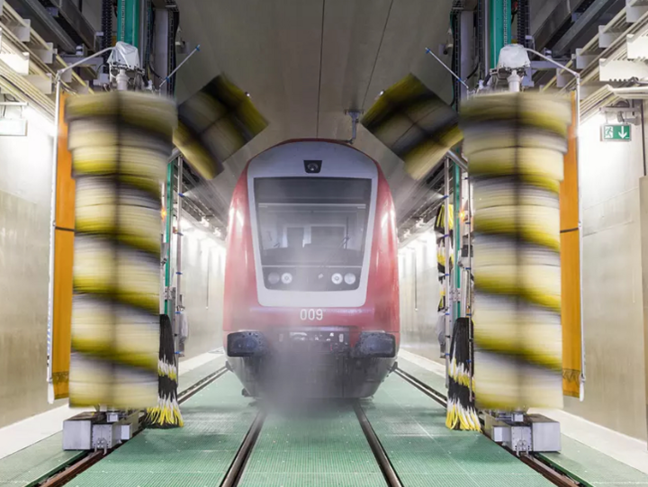
[[[400,345],[398,238],[380,166],[338,140],[249,160],[229,206],[223,347],[252,397],[365,398]]]

